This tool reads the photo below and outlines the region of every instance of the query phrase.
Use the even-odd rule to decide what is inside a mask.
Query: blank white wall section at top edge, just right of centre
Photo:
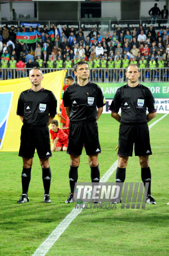
[[[101,2],[101,17],[102,18],[117,18],[121,19],[120,1],[102,1]]]

